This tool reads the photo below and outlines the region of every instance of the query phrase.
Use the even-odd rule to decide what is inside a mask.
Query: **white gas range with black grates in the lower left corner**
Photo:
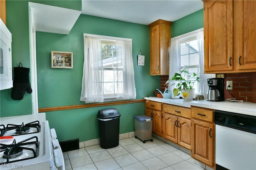
[[[45,113],[1,117],[0,129],[1,170],[65,169],[56,132]]]

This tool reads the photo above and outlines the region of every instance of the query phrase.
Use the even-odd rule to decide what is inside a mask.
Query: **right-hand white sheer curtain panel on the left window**
[[[123,86],[118,83],[116,97],[118,99],[135,99],[136,88],[132,60],[132,42],[128,40],[122,41],[122,50],[117,50],[117,56],[121,56],[120,58],[122,58],[122,65],[118,64],[118,67],[122,67],[123,71],[118,71],[118,74],[123,74]],[[121,76],[117,75],[117,77],[120,78]]]

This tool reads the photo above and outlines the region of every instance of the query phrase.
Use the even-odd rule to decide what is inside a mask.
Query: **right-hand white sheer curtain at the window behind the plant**
[[[199,52],[199,64],[200,64],[200,83],[199,83],[199,94],[207,99],[208,93],[208,78],[214,78],[215,74],[204,74],[204,29],[196,34],[198,52]]]

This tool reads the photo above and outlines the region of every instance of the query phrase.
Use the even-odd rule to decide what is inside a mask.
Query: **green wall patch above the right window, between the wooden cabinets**
[[[172,37],[204,27],[204,10],[198,10],[172,23]]]

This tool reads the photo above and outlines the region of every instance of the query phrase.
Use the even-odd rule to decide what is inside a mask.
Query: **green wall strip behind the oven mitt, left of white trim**
[[[12,67],[22,62],[30,67],[28,1],[6,1],[6,25],[12,33]],[[1,117],[32,113],[31,94],[25,93],[22,100],[12,100],[12,89],[0,91]]]

